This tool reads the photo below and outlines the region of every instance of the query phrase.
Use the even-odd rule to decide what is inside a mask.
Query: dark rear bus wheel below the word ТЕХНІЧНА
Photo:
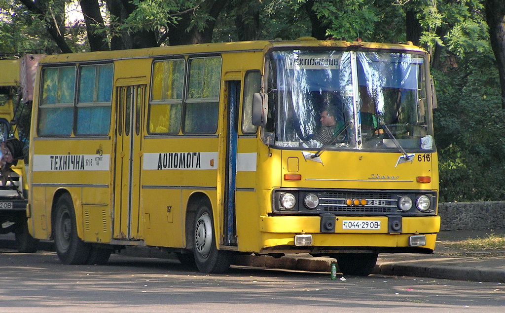
[[[69,194],[58,199],[53,218],[53,238],[58,257],[63,264],[85,264],[91,245],[77,236],[74,204]]]

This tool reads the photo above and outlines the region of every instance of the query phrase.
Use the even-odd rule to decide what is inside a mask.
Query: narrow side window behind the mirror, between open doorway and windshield
[[[256,133],[258,126],[252,125],[252,95],[260,92],[261,73],[247,71],[244,78],[244,99],[242,101],[242,133]]]

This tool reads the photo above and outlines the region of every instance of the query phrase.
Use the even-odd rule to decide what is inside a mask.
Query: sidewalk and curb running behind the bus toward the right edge
[[[415,276],[478,282],[505,282],[505,247],[500,251],[469,251],[453,244],[469,238],[486,238],[489,234],[505,236],[505,229],[484,231],[443,231],[437,236],[433,254],[379,254],[373,274]],[[330,272],[335,259],[313,258],[309,254],[288,254],[275,259],[247,256],[235,264],[312,272]]]

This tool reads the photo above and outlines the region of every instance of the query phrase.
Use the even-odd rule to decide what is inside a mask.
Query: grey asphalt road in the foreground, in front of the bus
[[[55,252],[0,247],[0,311],[502,311],[505,284],[412,277],[344,277],[234,266],[188,271],[173,259],[112,255],[63,265]]]

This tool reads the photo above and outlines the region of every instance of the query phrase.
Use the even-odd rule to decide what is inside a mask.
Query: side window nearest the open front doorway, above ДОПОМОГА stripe
[[[184,133],[216,133],[220,85],[221,57],[190,59]]]

